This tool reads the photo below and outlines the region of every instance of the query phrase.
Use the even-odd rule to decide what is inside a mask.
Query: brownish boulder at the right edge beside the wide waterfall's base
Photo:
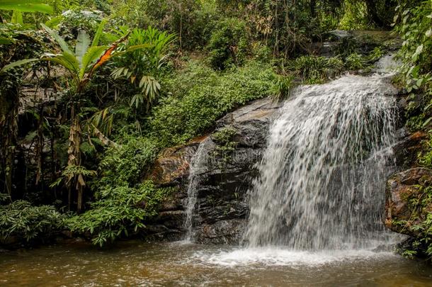
[[[432,169],[414,168],[394,174],[387,181],[385,225],[394,232],[416,236],[419,225],[432,213],[432,205],[423,206],[424,186],[432,184]]]

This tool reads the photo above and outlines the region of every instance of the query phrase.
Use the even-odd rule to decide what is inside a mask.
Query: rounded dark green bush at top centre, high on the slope
[[[210,38],[210,64],[214,69],[226,69],[244,62],[248,40],[246,23],[237,18],[227,18],[217,23]]]

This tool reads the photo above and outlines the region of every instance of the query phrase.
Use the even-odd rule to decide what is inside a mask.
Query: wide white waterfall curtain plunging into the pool
[[[363,249],[382,242],[396,93],[378,75],[295,90],[271,125],[258,167],[249,247]]]

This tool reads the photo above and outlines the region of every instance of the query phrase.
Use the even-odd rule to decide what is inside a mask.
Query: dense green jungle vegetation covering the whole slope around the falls
[[[428,132],[431,18],[431,0],[0,1],[0,242],[140,235],[172,192],[147,176],[162,149],[254,99],[368,69],[391,44],[319,57],[331,30],[402,38],[399,84],[421,95],[409,125]]]

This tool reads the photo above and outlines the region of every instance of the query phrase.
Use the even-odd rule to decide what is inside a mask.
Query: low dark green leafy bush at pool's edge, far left
[[[28,201],[0,206],[0,243],[49,240],[62,229],[63,219],[53,206],[31,206]]]

